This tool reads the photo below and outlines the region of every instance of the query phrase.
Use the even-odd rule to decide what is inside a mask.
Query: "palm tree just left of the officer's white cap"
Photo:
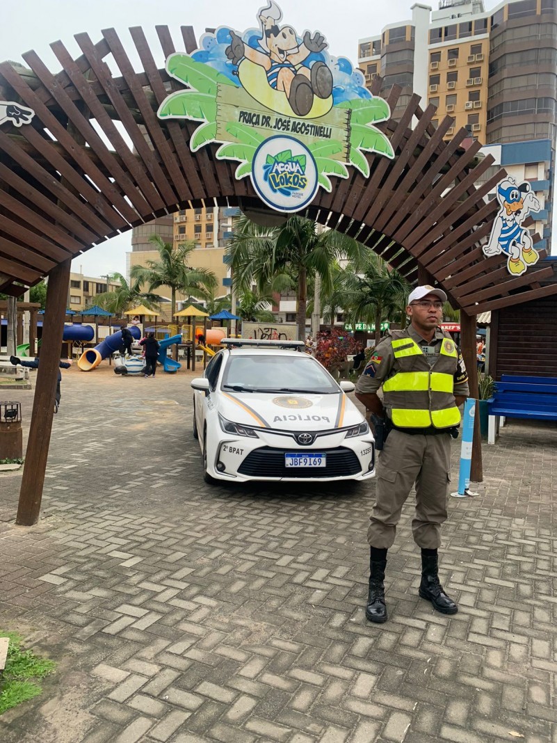
[[[358,268],[349,264],[339,273],[333,299],[342,299],[349,322],[374,323],[377,345],[381,338],[381,321],[400,315],[410,285],[401,273],[371,251],[364,272],[360,273]]]

